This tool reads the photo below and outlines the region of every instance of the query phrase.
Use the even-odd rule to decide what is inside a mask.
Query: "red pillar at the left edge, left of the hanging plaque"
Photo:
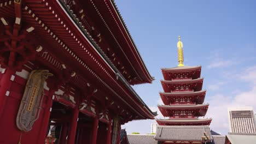
[[[0,71],[1,72],[1,71]],[[0,118],[2,117],[2,113],[4,111],[5,103],[7,100],[7,95],[10,92],[10,86],[12,81],[10,80],[11,75],[15,74],[15,70],[7,68],[2,75],[2,79],[0,80]]]

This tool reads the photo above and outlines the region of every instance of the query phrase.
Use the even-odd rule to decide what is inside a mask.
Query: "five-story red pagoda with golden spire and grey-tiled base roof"
[[[158,105],[158,108],[164,117],[168,119],[156,119],[160,125],[156,133],[156,140],[163,142],[182,143],[189,140],[180,137],[162,139],[164,131],[177,131],[183,133],[182,130],[202,130],[198,131],[199,135],[207,132],[210,135],[210,125],[212,118],[199,118],[206,115],[209,104],[203,104],[206,91],[202,91],[203,79],[200,78],[201,66],[188,67],[183,64],[183,43],[181,37],[177,43],[178,47],[178,67],[162,68],[164,80],[161,80],[164,92],[160,92],[160,97],[164,105]],[[169,125],[169,126],[167,126]],[[202,127],[200,127],[202,125]],[[165,130],[163,130],[165,129]],[[207,130],[204,130],[207,129]],[[160,134],[161,133],[161,134]],[[166,132],[167,133],[167,132]],[[160,135],[160,137],[159,137]],[[184,136],[184,134],[182,134]],[[171,135],[170,135],[171,136]],[[180,142],[178,142],[180,141]],[[197,140],[201,141],[199,137]]]

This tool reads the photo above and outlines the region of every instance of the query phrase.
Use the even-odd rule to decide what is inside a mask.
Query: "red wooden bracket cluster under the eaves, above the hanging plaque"
[[[22,65],[29,59],[36,56],[36,47],[31,45],[27,40],[28,33],[31,33],[33,27],[21,27],[21,1],[14,1],[15,22],[11,27],[4,19],[0,17],[4,25],[4,33],[0,40],[0,63],[3,67],[20,70]]]

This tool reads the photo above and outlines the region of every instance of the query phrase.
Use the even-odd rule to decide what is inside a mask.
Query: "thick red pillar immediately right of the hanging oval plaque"
[[[42,121],[42,127],[40,130],[40,135],[39,135],[39,143],[43,143],[45,141],[45,137],[46,137],[46,133],[48,130],[48,124],[49,124],[49,119],[50,119],[50,115],[51,115],[51,106],[53,106],[53,94],[54,94],[55,90],[50,88],[49,90],[49,96],[48,96],[48,100],[47,103],[45,105],[45,109],[44,109],[44,114],[43,114],[43,121]]]

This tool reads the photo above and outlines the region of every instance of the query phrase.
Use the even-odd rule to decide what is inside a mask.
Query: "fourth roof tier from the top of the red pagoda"
[[[195,117],[202,117],[206,115],[209,104],[201,105],[158,105],[164,117],[174,117],[175,113],[188,112]]]

